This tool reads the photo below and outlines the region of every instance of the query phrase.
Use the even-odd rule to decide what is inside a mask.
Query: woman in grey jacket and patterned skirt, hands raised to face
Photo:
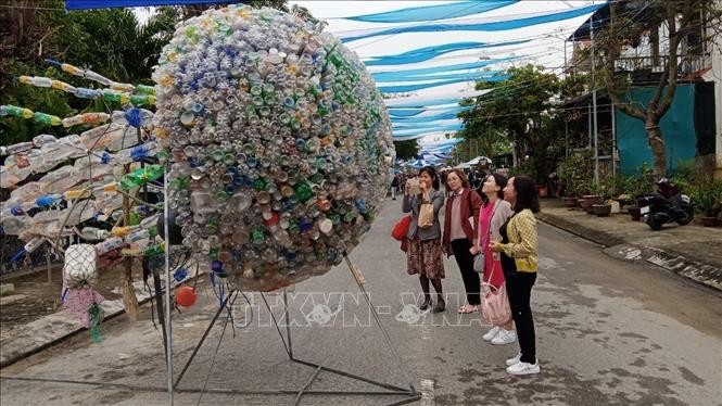
[[[415,180],[418,180],[418,185]],[[421,168],[418,179],[406,181],[402,211],[411,213],[411,221],[406,234],[408,239],[407,272],[408,275],[419,275],[423,291],[423,302],[419,308],[422,310],[432,305],[429,282],[433,284],[436,291],[434,313],[444,312],[446,308],[441,286],[445,274],[441,249],[441,225],[439,224],[439,211],[443,205],[444,193],[439,191],[439,177],[432,166]],[[421,225],[419,225],[420,219]]]

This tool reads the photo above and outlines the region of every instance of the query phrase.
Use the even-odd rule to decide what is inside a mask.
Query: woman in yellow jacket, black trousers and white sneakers
[[[539,373],[530,305],[539,259],[539,231],[534,217],[539,212],[539,196],[534,181],[523,175],[509,179],[504,188],[504,200],[511,204],[516,214],[502,226],[502,242],[493,242],[491,249],[502,253],[502,268],[520,348],[516,357],[506,360],[506,371],[511,375]]]

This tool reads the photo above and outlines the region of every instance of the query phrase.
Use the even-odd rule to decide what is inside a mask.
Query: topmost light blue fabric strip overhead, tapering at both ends
[[[384,13],[356,15],[346,17],[346,20],[367,23],[414,23],[439,20],[440,15],[444,18],[456,18],[496,10],[516,2],[517,0],[461,1],[451,4],[416,7]]]

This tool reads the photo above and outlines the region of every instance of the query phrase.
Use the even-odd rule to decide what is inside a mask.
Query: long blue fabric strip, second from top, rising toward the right
[[[344,36],[339,33],[342,42],[351,42],[358,39],[378,37],[382,35],[395,35],[404,33],[439,33],[439,31],[501,31],[506,29],[516,29],[530,27],[537,24],[554,23],[558,21],[569,20],[595,12],[597,9],[605,4],[587,5],[583,8],[565,10],[561,12],[553,12],[548,14],[535,15],[531,17],[523,17],[517,20],[507,20],[487,23],[444,23],[444,24],[426,24],[426,25],[407,25],[404,27],[387,28],[387,29],[371,29],[364,34],[351,34]]]

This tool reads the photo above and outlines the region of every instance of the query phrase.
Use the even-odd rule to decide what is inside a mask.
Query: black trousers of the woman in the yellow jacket
[[[521,361],[536,363],[536,337],[534,334],[534,318],[530,306],[532,287],[536,281],[536,272],[512,272],[506,277],[506,293],[509,296],[511,316],[517,327]]]

